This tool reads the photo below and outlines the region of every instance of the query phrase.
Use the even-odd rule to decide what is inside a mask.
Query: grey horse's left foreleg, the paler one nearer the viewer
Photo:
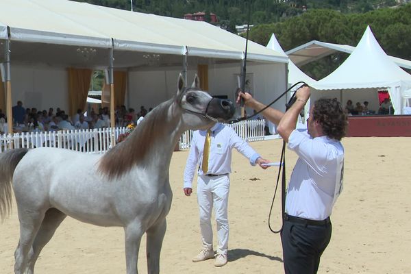
[[[127,274],[137,274],[138,251],[144,231],[140,222],[130,223],[124,227],[125,233],[125,264]]]

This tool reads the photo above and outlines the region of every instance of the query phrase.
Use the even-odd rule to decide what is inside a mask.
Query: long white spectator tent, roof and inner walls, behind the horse
[[[206,22],[67,0],[1,0],[0,39],[11,44],[13,103],[39,109],[66,109],[66,68],[107,69],[112,50],[114,69],[127,71],[125,104],[133,108],[169,99],[178,74],[187,73],[191,81],[203,64],[210,93],[235,99],[245,58],[245,38]],[[0,63],[3,52],[0,40]],[[247,75],[258,99],[286,86],[287,60],[249,41]]]

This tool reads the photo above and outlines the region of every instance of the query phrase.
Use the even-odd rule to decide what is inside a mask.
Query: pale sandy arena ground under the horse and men
[[[332,240],[319,273],[411,273],[411,138],[345,138],[344,190],[332,214]],[[282,140],[251,142],[264,158],[279,161]],[[171,161],[173,203],[161,253],[161,273],[284,273],[278,234],[268,227],[277,167],[252,167],[234,152],[229,197],[229,263],[192,263],[201,247],[197,198],[185,197],[182,176],[188,151]],[[287,177],[296,155],[287,151]],[[194,185],[195,186],[195,185]],[[279,194],[271,224],[280,225]],[[215,225],[214,225],[215,227]],[[0,273],[13,273],[18,242],[16,209],[0,224]],[[215,240],[214,240],[215,242]],[[96,227],[67,218],[40,254],[36,273],[125,273],[123,228]],[[138,270],[147,273],[145,238]]]

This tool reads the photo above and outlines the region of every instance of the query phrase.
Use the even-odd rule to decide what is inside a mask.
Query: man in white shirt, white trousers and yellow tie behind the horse
[[[192,134],[190,153],[184,171],[184,194],[190,196],[192,179],[197,171],[197,201],[199,204],[200,229],[203,249],[193,262],[201,262],[214,258],[212,247],[211,214],[214,208],[217,223],[218,245],[215,266],[227,264],[229,225],[227,219],[229,173],[231,173],[232,149],[244,155],[251,165],[259,164],[266,169],[264,160],[247,142],[242,140],[234,129],[221,123],[216,123],[210,129],[210,151],[206,167],[203,165],[204,142],[208,131],[196,131]],[[199,169],[197,169],[197,165]],[[203,171],[203,169],[205,171]]]

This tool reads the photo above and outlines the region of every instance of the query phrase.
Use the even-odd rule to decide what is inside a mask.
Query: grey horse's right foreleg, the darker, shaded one
[[[160,251],[164,234],[166,234],[166,219],[147,230],[147,273],[160,273]]]

